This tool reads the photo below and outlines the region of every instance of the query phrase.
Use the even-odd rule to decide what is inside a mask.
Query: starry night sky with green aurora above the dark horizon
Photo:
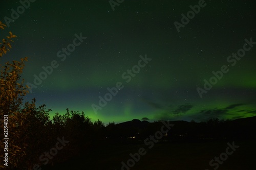
[[[113,10],[103,0],[37,0],[22,11],[19,1],[1,3],[0,20],[9,25],[1,38],[17,35],[1,64],[28,57],[22,78],[34,88],[25,101],[46,104],[51,117],[69,108],[105,124],[256,115],[255,1],[118,4]],[[204,7],[182,22],[198,4]],[[45,80],[35,85],[40,73]],[[206,81],[213,83],[208,90]],[[100,96],[116,85],[100,107]]]

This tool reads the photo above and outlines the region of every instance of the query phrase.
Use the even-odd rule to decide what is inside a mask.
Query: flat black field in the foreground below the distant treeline
[[[98,147],[97,151],[87,153],[87,156],[74,158],[72,161],[47,169],[121,169],[121,162],[131,159],[130,153],[138,153],[144,148],[146,154],[130,169],[214,169],[209,161],[226,152],[227,142],[215,141],[201,143],[156,143],[152,149],[148,145],[129,144]],[[219,164],[218,169],[255,169],[255,141],[234,141],[239,148]],[[129,168],[123,168],[125,170]],[[217,169],[217,168],[216,168]]]

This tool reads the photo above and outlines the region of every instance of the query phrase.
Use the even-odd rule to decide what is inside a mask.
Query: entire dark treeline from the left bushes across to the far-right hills
[[[149,123],[134,119],[130,122],[104,124],[85,116],[81,111],[56,113],[50,119],[45,105],[36,107],[35,99],[26,103],[9,129],[9,139],[16,150],[9,155],[10,169],[40,169],[45,165],[66,162],[98,146],[144,143],[144,139],[160,131],[161,121]],[[247,121],[248,122],[248,121]],[[13,122],[12,122],[13,123]],[[175,126],[159,142],[191,142],[207,140],[255,139],[255,126],[246,122],[210,119],[207,122],[171,122]],[[250,128],[251,129],[248,129]],[[11,147],[11,146],[10,146]]]

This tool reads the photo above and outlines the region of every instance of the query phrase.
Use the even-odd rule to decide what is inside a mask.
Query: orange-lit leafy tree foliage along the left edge
[[[0,28],[4,29],[4,27],[6,25],[0,22]],[[0,59],[10,51],[12,39],[16,37],[11,32],[9,34],[10,36],[7,36],[7,39],[4,38],[2,43],[0,43]],[[24,68],[24,61],[27,61],[27,58],[23,58],[21,61],[13,61],[12,63],[7,62],[4,66],[0,65],[0,115],[1,118],[4,115],[8,115],[8,137],[11,139],[8,141],[8,164],[14,167],[25,156],[25,148],[15,142],[20,138],[16,127],[22,125],[22,121],[19,121],[17,118],[18,110],[22,104],[22,97],[28,92],[26,87],[22,85],[24,81],[19,83],[20,74],[22,74]],[[3,126],[1,126],[0,130],[4,131]],[[2,150],[4,145],[3,139],[1,140],[0,148]],[[3,152],[1,152],[0,156],[3,157]],[[2,164],[0,167],[6,168]]]

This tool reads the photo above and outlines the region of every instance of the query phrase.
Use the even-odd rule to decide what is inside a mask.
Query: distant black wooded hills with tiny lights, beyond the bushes
[[[206,122],[173,121],[175,125],[159,142],[201,142],[209,140],[249,140],[256,139],[256,116],[224,120],[211,118]],[[160,131],[162,122],[148,123],[146,121],[132,120],[131,122],[117,124],[108,131],[109,140],[117,143],[143,143],[144,139]],[[106,134],[107,135],[107,134]],[[130,140],[126,140],[130,139]]]

